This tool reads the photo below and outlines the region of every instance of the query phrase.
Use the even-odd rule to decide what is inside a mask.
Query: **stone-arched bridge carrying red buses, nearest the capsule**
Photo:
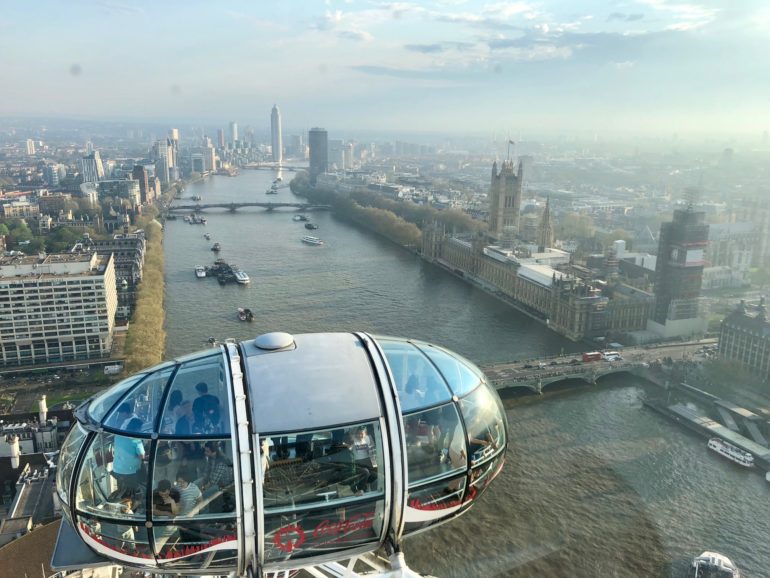
[[[622,359],[616,361],[582,361],[581,354],[547,357],[495,363],[481,367],[490,383],[499,391],[513,388],[526,388],[535,393],[543,393],[552,384],[575,380],[595,384],[600,378],[620,373],[628,373],[644,378],[658,385],[666,385],[668,372],[661,370],[661,363],[672,363],[695,358],[706,347],[713,346],[715,340],[663,344],[647,347],[628,347],[622,353]]]

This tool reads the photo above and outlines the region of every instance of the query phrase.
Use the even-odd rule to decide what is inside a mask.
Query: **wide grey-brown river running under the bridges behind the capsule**
[[[284,173],[283,185],[292,173]],[[301,202],[276,177],[244,171],[188,186],[185,199]],[[368,331],[444,345],[479,363],[578,351],[539,323],[329,212],[206,213],[208,224],[168,221],[165,230],[167,357],[209,337],[268,331]],[[211,235],[211,240],[204,238]],[[251,277],[247,286],[197,279],[216,255]],[[255,314],[238,320],[238,307]],[[507,402],[508,461],[460,519],[406,542],[415,570],[473,576],[684,576],[703,550],[729,556],[744,577],[768,576],[770,506],[764,475],[739,471],[642,406],[659,393],[636,378]],[[761,472],[762,474],[764,472]]]

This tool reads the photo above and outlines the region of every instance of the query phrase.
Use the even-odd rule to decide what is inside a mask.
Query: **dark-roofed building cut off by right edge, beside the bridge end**
[[[770,379],[770,322],[764,298],[753,308],[741,301],[735,311],[722,320],[719,357],[738,363],[764,381]]]

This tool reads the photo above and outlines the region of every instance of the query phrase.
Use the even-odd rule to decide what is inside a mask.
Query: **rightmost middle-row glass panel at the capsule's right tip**
[[[505,417],[498,399],[484,384],[460,400],[472,466],[505,449]]]

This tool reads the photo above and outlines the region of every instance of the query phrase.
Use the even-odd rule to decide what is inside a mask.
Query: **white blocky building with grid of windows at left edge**
[[[112,254],[0,257],[0,365],[108,357],[117,304]]]

